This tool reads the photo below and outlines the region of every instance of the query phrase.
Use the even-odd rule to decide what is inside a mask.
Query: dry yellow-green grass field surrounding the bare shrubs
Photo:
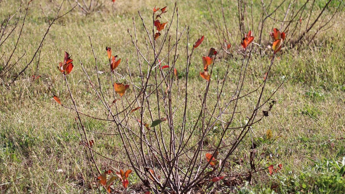
[[[61,11],[65,12],[71,8],[68,2],[73,4],[74,1],[66,1]],[[24,67],[26,60],[30,60],[30,56],[37,49],[43,33],[48,28],[40,3],[49,19],[55,16],[58,9],[48,0],[42,2],[34,0],[30,4],[22,39],[14,58],[17,59],[24,52],[27,53],[27,57],[20,61],[17,72]],[[169,10],[172,10],[174,3],[153,0],[117,0],[115,4],[109,2],[99,12],[87,16],[80,14],[80,9],[77,7],[58,21],[63,26],[53,25],[50,29],[40,55],[38,75],[41,77],[39,79],[35,81],[31,79],[36,71],[36,65],[32,64],[10,88],[7,88],[6,81],[2,80],[0,91],[1,192],[81,193],[83,189],[90,193],[98,192],[95,188],[89,188],[94,185],[91,185],[92,175],[88,161],[82,146],[79,145],[76,114],[52,100],[52,96],[57,95],[63,104],[73,106],[64,79],[56,69],[56,65],[63,60],[64,51],[72,55],[75,67],[68,75],[68,81],[79,111],[88,115],[105,117],[104,111],[99,108],[101,104],[92,94],[92,89],[79,64],[80,60],[91,79],[96,81],[97,75],[89,36],[97,56],[99,71],[104,72],[100,74],[100,78],[105,95],[108,96],[107,101],[111,102],[112,86],[109,80],[110,73],[105,48],[111,47],[112,52],[122,58],[123,66],[118,68],[122,75],[126,74],[127,67],[124,64],[125,59],[128,59],[134,82],[139,83],[136,49],[132,45],[127,28],[133,32],[132,17],[134,17],[138,28],[138,39],[145,44],[143,37],[146,34],[143,33],[144,28],[140,23],[137,10],[140,10],[145,20],[151,21],[152,8],[156,4],[157,6],[161,4],[158,7],[166,5]],[[322,4],[324,1],[320,0],[318,3]],[[191,59],[189,120],[187,121],[191,123],[198,114],[200,106],[198,96],[203,94],[205,88],[204,81],[199,76],[200,56],[205,55],[210,47],[217,49],[219,43],[203,23],[205,22],[206,25],[211,23],[206,2],[190,0],[178,1],[177,4],[180,30],[185,25],[190,26],[189,46],[191,47],[202,35],[205,36],[204,42]],[[26,2],[23,5],[26,5]],[[216,5],[216,3],[215,6],[211,4],[213,11],[217,11]],[[19,1],[2,0],[0,19],[3,20],[10,13],[15,12],[19,6]],[[260,12],[259,6],[260,4],[258,4],[257,12]],[[229,13],[226,17],[233,16]],[[284,82],[284,85],[274,96],[277,104],[270,112],[270,116],[253,126],[252,135],[258,142],[255,159],[257,168],[267,167],[270,164],[282,164],[283,170],[273,176],[269,175],[268,170],[260,171],[253,175],[251,185],[242,178],[237,178],[231,185],[220,186],[221,182],[219,182],[213,191],[207,192],[215,192],[218,189],[223,193],[272,193],[273,187],[279,193],[343,193],[345,191],[344,17],[344,13],[339,13],[333,27],[319,33],[313,43],[303,43],[298,48],[283,50],[279,53],[272,69],[267,91],[274,91],[281,82]],[[168,20],[168,18],[163,16],[161,20]],[[229,28],[236,28],[236,26]],[[1,54],[5,53],[5,57],[9,55],[10,49],[18,38],[18,33],[16,29],[14,35],[0,47]],[[178,52],[181,57],[176,68],[179,71],[179,79],[184,80],[186,37],[184,36],[181,41],[184,46],[179,47]],[[239,38],[237,45],[240,45]],[[235,75],[238,72],[241,62],[240,58],[227,57],[219,57],[215,62],[214,71],[219,75],[223,75],[227,65],[230,64],[230,81],[225,86],[225,98],[230,97],[231,92],[236,89],[236,78],[231,77],[231,73]],[[247,84],[244,86],[246,92],[252,91],[262,81],[264,69],[269,66],[269,62],[269,56],[253,57],[246,77]],[[210,87],[210,92],[216,93],[216,82],[213,82]],[[246,101],[238,105],[239,108],[248,109],[247,103],[254,102],[256,97],[248,97]],[[214,104],[215,99],[209,99],[209,103]],[[180,122],[182,122],[181,114],[183,113],[179,112],[176,115],[177,118],[181,118]],[[82,120],[87,130],[102,133],[117,132],[111,123],[88,117],[82,117]],[[240,125],[244,122],[243,120],[245,117],[238,118],[236,124]],[[267,129],[272,130],[272,138],[266,137]],[[97,152],[128,163],[118,136],[88,134],[90,138],[95,139],[93,149]],[[210,149],[214,148],[219,140],[217,140],[219,134],[220,130],[215,129],[212,135],[207,136]],[[198,138],[196,133],[191,138],[191,144],[196,143]],[[236,175],[248,172],[250,142],[250,136],[248,136],[237,148],[226,173]],[[115,170],[127,168],[100,156],[95,157],[102,170],[109,167]],[[58,169],[62,172],[57,171]],[[128,192],[140,191],[139,188],[143,185],[134,173],[129,180]],[[122,191],[118,181],[114,185],[115,188],[119,188],[118,191]]]

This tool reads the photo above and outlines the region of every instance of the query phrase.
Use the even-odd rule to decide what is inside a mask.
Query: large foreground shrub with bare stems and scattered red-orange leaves
[[[152,20],[149,22],[145,22],[141,13],[138,12],[144,29],[139,33],[145,34],[145,40],[138,40],[134,19],[134,30],[128,29],[129,37],[136,49],[139,81],[134,81],[137,78],[132,76],[128,59],[121,61],[117,56],[112,55],[111,48],[105,49],[109,59],[108,83],[112,86],[111,96],[105,95],[107,94],[104,91],[106,87],[101,84],[98,61],[90,38],[97,80],[91,80],[82,61],[80,65],[95,97],[107,113],[106,118],[97,118],[78,110],[76,99],[73,98],[68,84],[67,77],[73,68],[73,60],[70,59],[68,53],[65,53],[65,61],[58,67],[65,79],[74,107],[67,107],[58,97],[54,96],[54,98],[63,107],[75,110],[77,113],[76,119],[79,121],[78,128],[80,127],[81,132],[80,140],[85,145],[85,154],[99,191],[100,187],[104,187],[111,192],[110,186],[115,178],[111,177],[107,180],[106,175],[109,172],[100,171],[94,154],[132,169],[141,182],[154,193],[188,193],[200,185],[210,188],[215,182],[230,177],[224,171],[228,162],[233,159],[231,156],[234,151],[251,133],[252,126],[269,116],[270,110],[276,103],[272,100],[272,96],[282,84],[271,92],[266,91],[265,88],[269,84],[267,80],[270,77],[276,53],[282,48],[285,40],[285,33],[280,33],[278,29],[274,29],[271,33],[273,56],[263,81],[253,91],[246,93],[243,91],[243,86],[247,82],[247,69],[254,51],[253,43],[251,43],[254,39],[252,32],[244,35],[243,59],[238,72],[230,74],[230,64],[228,64],[224,75],[213,75],[217,51],[210,48],[208,55],[203,57],[204,67],[200,67],[200,77],[203,78],[204,88],[195,88],[189,79],[191,60],[195,50],[202,46],[204,36],[196,42],[193,41],[195,43],[193,47],[190,47],[190,27],[179,26],[176,4],[171,11],[169,22],[161,22],[159,19],[161,14],[167,14],[166,7],[161,9],[155,7]],[[148,24],[152,27],[148,27]],[[186,42],[180,46],[183,36],[186,36]],[[146,42],[146,44],[143,45],[140,42]],[[181,52],[178,47],[185,47],[186,50]],[[104,51],[105,56],[106,51]],[[181,71],[176,69],[176,64],[178,58],[183,55],[185,55],[184,77],[178,79],[178,73]],[[127,75],[121,75],[117,71],[119,65],[125,67]],[[230,78],[236,79],[236,87],[230,96],[226,96],[224,93],[230,92],[226,88],[231,84]],[[216,92],[211,91],[211,88],[216,88]],[[195,118],[190,118],[191,110],[188,109],[188,104],[192,100],[191,90],[200,93],[199,107],[196,107],[198,113]],[[255,101],[244,102],[245,107],[239,109],[239,101],[249,96],[255,97]],[[216,102],[210,102],[209,99],[216,99]],[[88,138],[81,116],[111,122],[118,131],[117,135],[122,141],[129,164],[119,161],[119,158],[109,158],[93,150],[91,146],[93,142]],[[246,118],[244,124],[236,122],[243,118]],[[214,142],[213,148],[208,149],[206,137],[212,135],[215,126],[220,128],[219,139]],[[229,138],[231,136],[234,138]],[[197,139],[197,141],[193,142],[192,139]],[[254,147],[253,140],[252,147]],[[249,174],[238,176],[246,176],[251,181],[252,174],[263,170],[255,168],[254,157],[254,151],[250,150]],[[91,162],[95,165],[92,166]],[[100,174],[97,179],[95,170]],[[127,177],[131,171],[127,172],[125,173],[127,176],[123,171],[117,173],[125,191],[128,185]]]

